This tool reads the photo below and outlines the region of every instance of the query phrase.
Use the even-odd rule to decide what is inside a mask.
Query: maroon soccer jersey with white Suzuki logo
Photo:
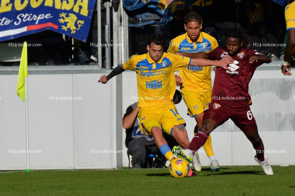
[[[251,104],[248,93],[249,82],[256,67],[263,64],[263,62],[249,63],[249,58],[260,55],[263,54],[253,48],[242,48],[237,55],[232,56],[234,62],[228,66],[231,71],[217,67],[212,90],[212,102],[214,100],[244,100]],[[228,53],[225,47],[217,47],[212,52],[209,52],[207,56],[210,60],[221,60],[228,56]]]

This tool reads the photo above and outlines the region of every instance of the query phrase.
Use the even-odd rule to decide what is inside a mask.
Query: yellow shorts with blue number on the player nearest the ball
[[[154,126],[172,135],[174,126],[185,124],[174,104],[141,107],[139,108],[138,118],[140,120],[140,131],[150,137],[152,136],[151,129]]]

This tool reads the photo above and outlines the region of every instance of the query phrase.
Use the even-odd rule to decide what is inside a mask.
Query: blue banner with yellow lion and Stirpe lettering
[[[0,2],[0,41],[50,29],[86,42],[96,0]]]

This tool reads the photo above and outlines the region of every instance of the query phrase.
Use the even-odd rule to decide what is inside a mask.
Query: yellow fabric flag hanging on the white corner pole
[[[22,47],[22,57],[19,64],[19,76],[17,79],[17,95],[22,98],[22,101],[25,100],[25,85],[24,77],[28,76],[28,55],[27,55],[27,42],[24,42]]]

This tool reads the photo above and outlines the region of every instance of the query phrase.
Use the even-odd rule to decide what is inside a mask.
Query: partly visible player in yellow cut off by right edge
[[[295,52],[295,1],[286,6],[285,19],[288,37],[281,69],[284,75],[292,75],[289,60]]]

